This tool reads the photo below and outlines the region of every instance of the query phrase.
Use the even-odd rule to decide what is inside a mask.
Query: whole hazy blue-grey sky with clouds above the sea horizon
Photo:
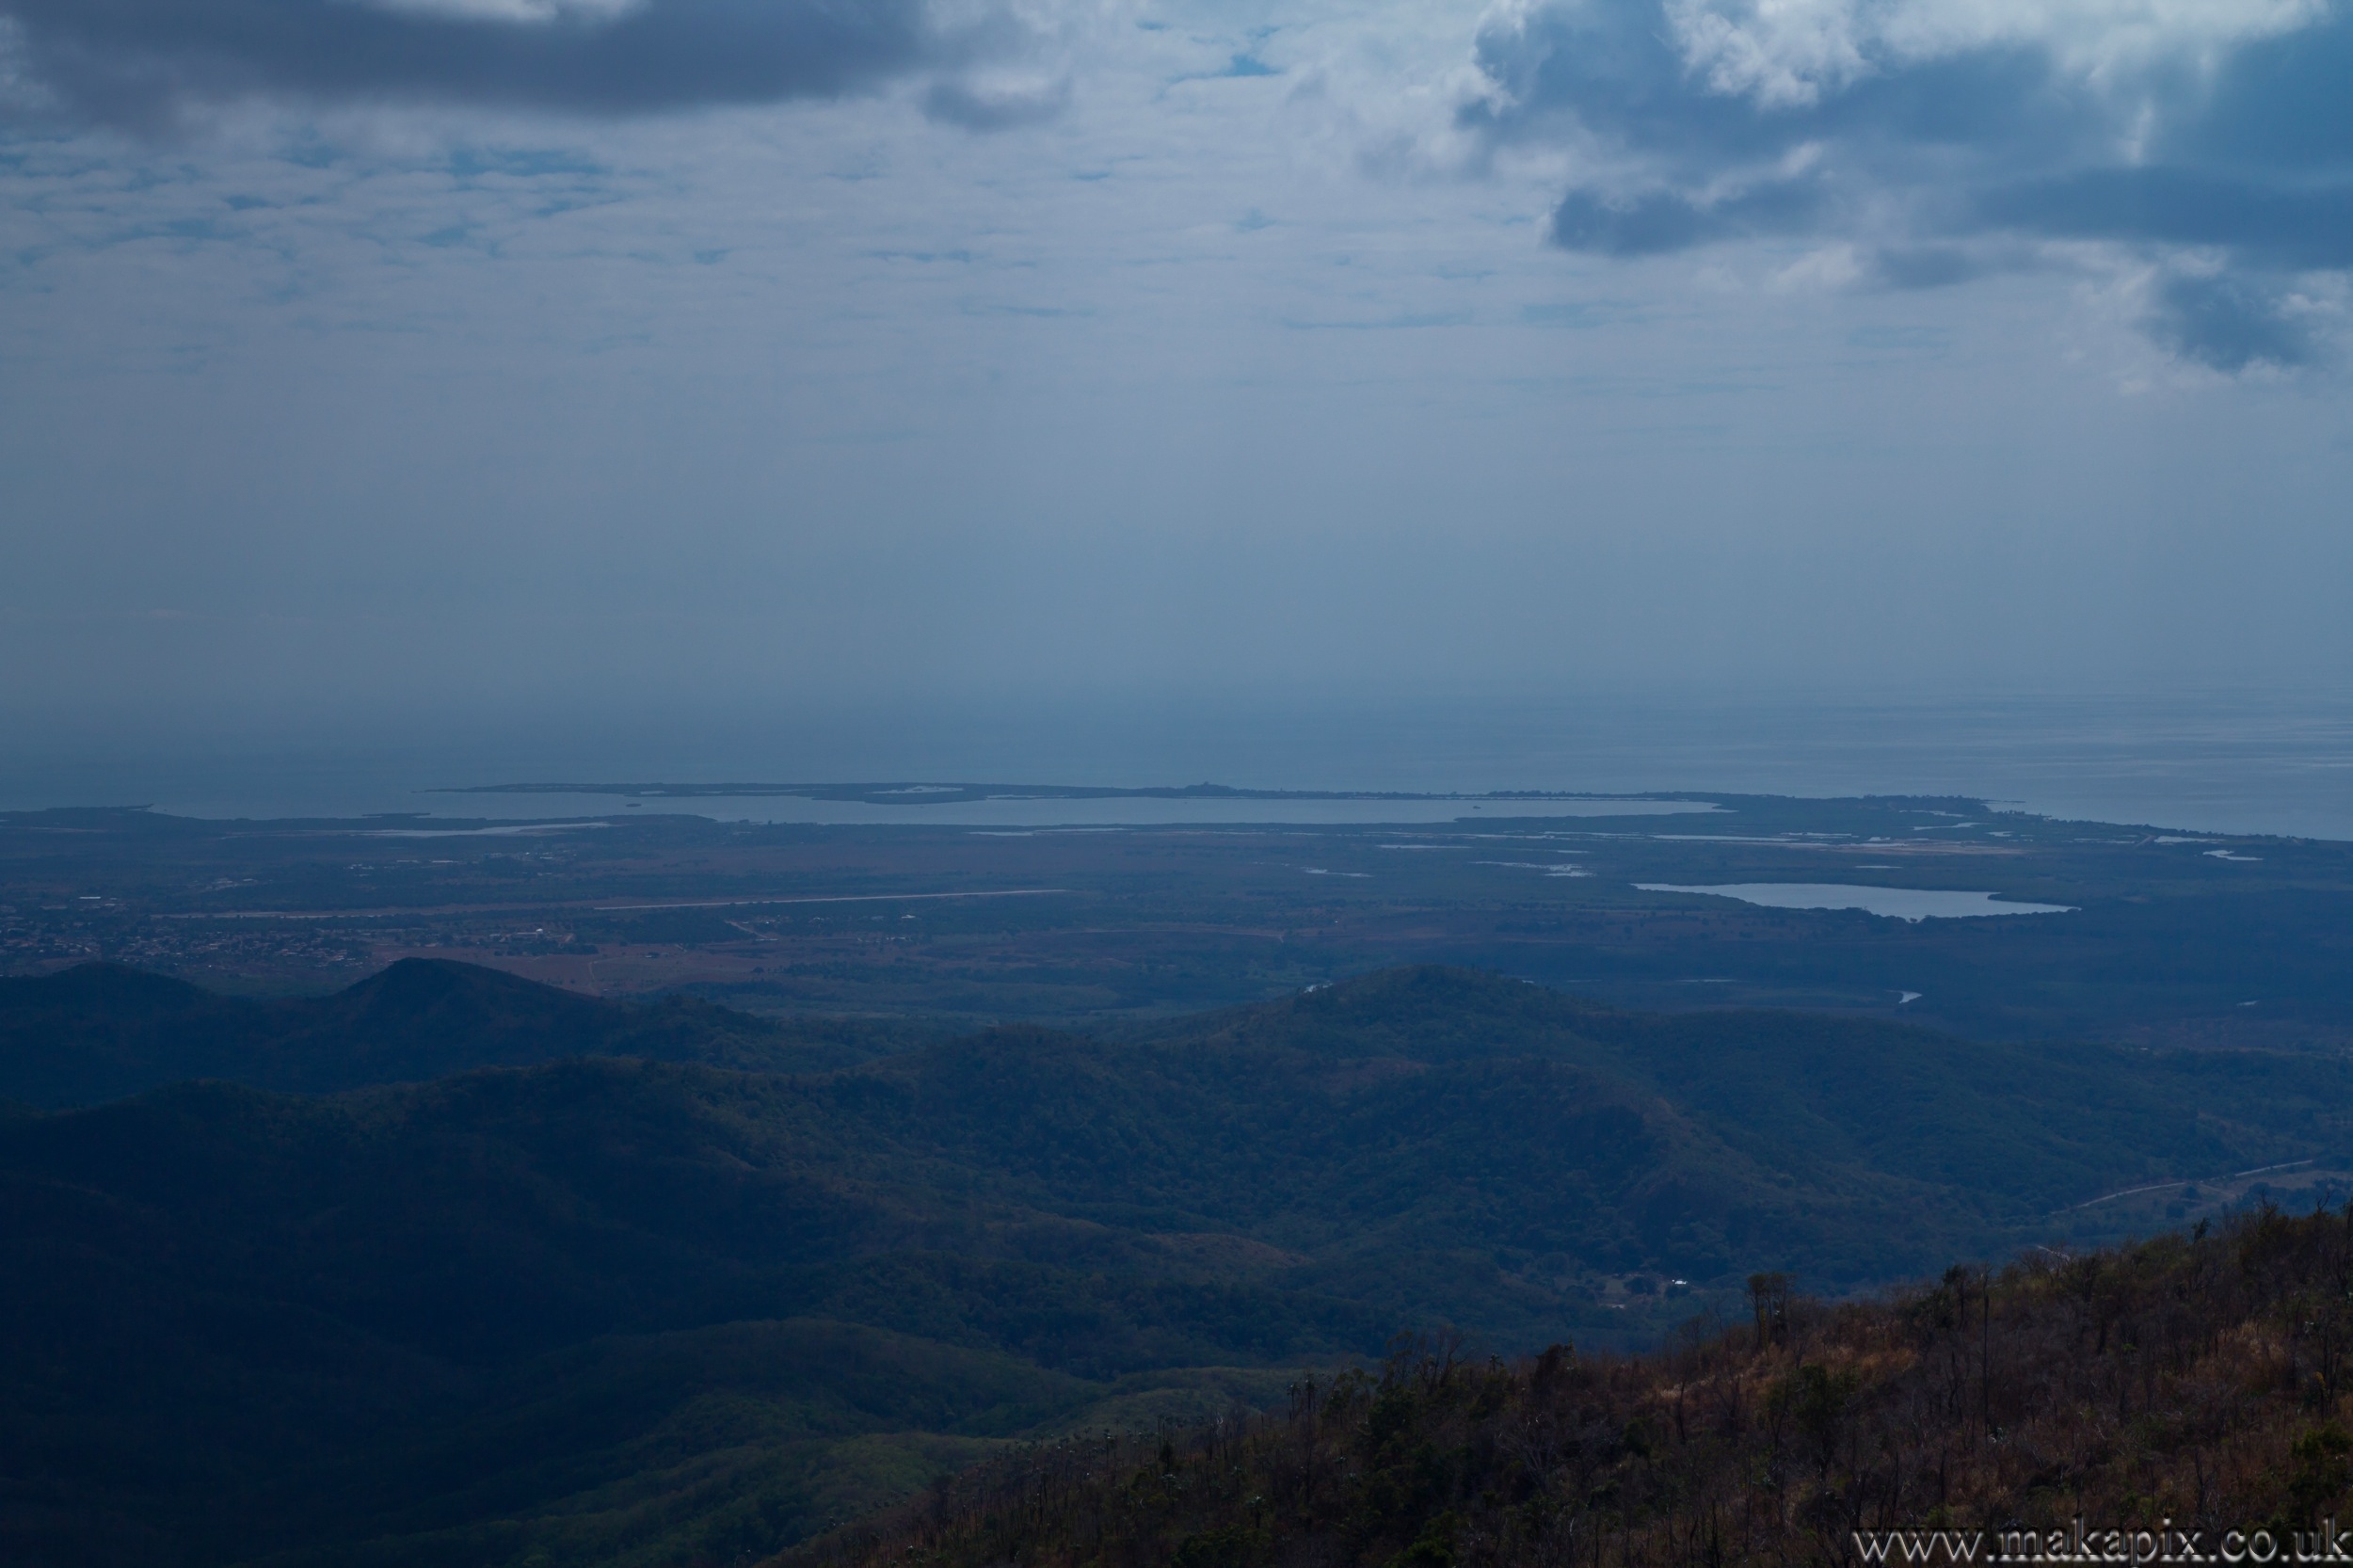
[[[2341,690],[2348,80],[2315,0],[0,0],[0,725]]]

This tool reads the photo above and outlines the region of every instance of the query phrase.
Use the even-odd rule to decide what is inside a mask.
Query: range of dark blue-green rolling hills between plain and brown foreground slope
[[[0,1556],[31,1561],[734,1561],[1400,1328],[1640,1344],[1753,1269],[1852,1288],[2059,1238],[2115,1187],[2332,1156],[2353,1107],[2320,1055],[1428,968],[927,1045],[464,965],[266,1005],[38,984],[21,1074],[249,1081],[0,1118]],[[911,1048],[840,1062],[880,1045]],[[485,1057],[532,1064],[254,1085]]]

